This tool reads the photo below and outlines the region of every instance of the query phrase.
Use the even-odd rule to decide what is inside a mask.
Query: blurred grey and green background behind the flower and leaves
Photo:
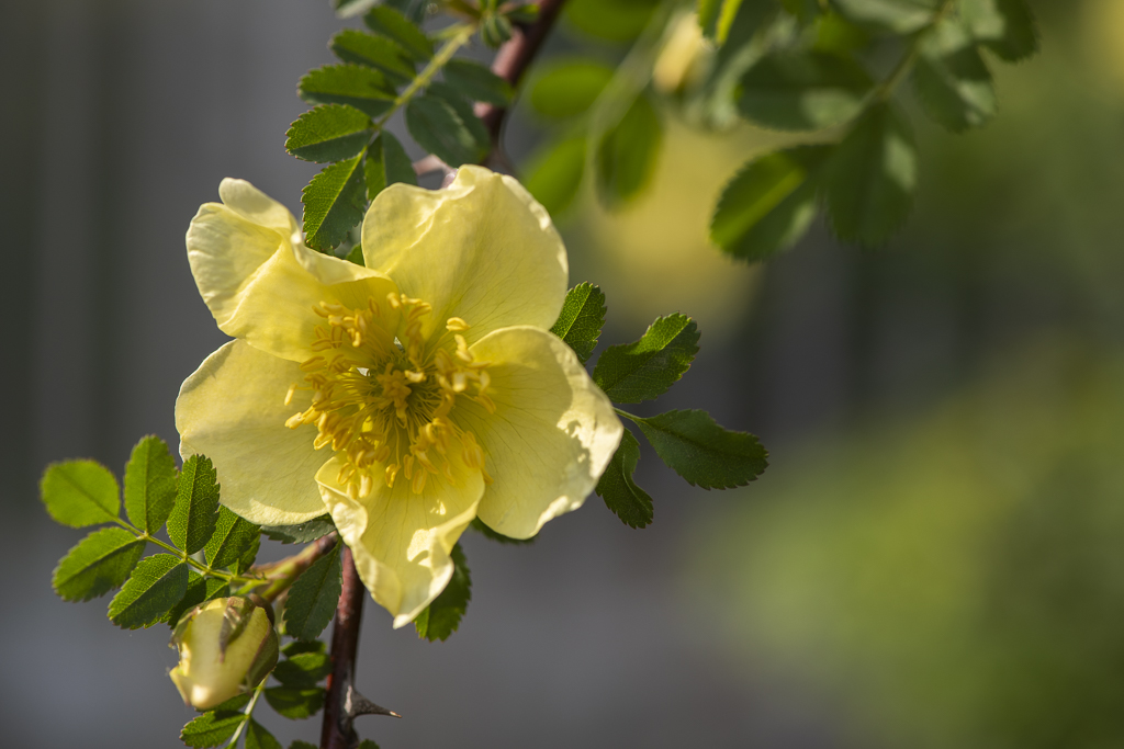
[[[1036,8],[1043,52],[995,66],[992,125],[915,117],[922,193],[887,248],[821,226],[763,268],[726,262],[706,211],[769,136],[670,111],[644,200],[563,217],[608,340],[699,319],[701,354],[644,412],[708,409],[772,465],[707,493],[645,447],[649,529],[592,496],[526,548],[469,535],[473,599],[447,642],[369,601],[357,685],[406,718],[362,719],[363,737],[1124,746],[1124,2]],[[193,713],[167,631],[53,595],[81,531],[36,482],[70,457],[119,472],[145,433],[175,442],[179,384],[224,341],[183,232],[228,175],[299,216],[315,166],[284,130],[338,28],[324,0],[0,2],[4,746],[180,746]],[[566,34],[547,55],[586,44]],[[516,163],[542,133],[516,115]],[[262,713],[285,743],[319,736],[319,716]]]

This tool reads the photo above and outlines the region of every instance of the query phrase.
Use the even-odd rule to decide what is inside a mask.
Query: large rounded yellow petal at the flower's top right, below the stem
[[[566,291],[566,255],[546,210],[509,176],[463,166],[445,190],[395,184],[363,221],[366,266],[433,305],[428,337],[452,317],[469,342],[497,328],[550,328]]]

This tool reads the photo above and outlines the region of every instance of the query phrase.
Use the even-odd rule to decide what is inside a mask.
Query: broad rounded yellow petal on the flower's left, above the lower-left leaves
[[[327,511],[314,476],[330,453],[312,449],[315,427],[284,426],[311,401],[311,393],[297,391],[284,404],[289,385],[302,376],[297,364],[233,340],[183,382],[175,401],[180,455],[209,457],[223,504],[260,526]]]

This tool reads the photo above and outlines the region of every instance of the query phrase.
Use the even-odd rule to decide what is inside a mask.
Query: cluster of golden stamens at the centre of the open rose
[[[289,387],[285,403],[298,390],[312,391],[312,403],[285,426],[316,424],[316,449],[332,446],[344,459],[338,481],[352,499],[365,496],[377,474],[387,486],[401,474],[419,493],[426,482],[443,476],[454,482],[450,449],[454,440],[470,468],[484,467],[475,435],[452,418],[457,399],[496,410],[487,395],[488,364],[475,362],[461,334],[464,320],[450,318],[434,340],[422,337],[422,321],[432,307],[405,294],[365,308],[320,302],[314,308],[325,322],[315,329],[316,354],[300,365],[303,384]],[[388,329],[387,318],[399,312]],[[484,472],[484,481],[491,482]]]

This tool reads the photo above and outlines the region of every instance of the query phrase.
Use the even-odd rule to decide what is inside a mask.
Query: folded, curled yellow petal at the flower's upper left
[[[314,307],[364,307],[397,291],[380,273],[306,247],[292,214],[248,182],[224,180],[219,194],[227,204],[206,203],[191,220],[188,262],[228,336],[303,362],[314,355],[312,329],[324,322]]]

